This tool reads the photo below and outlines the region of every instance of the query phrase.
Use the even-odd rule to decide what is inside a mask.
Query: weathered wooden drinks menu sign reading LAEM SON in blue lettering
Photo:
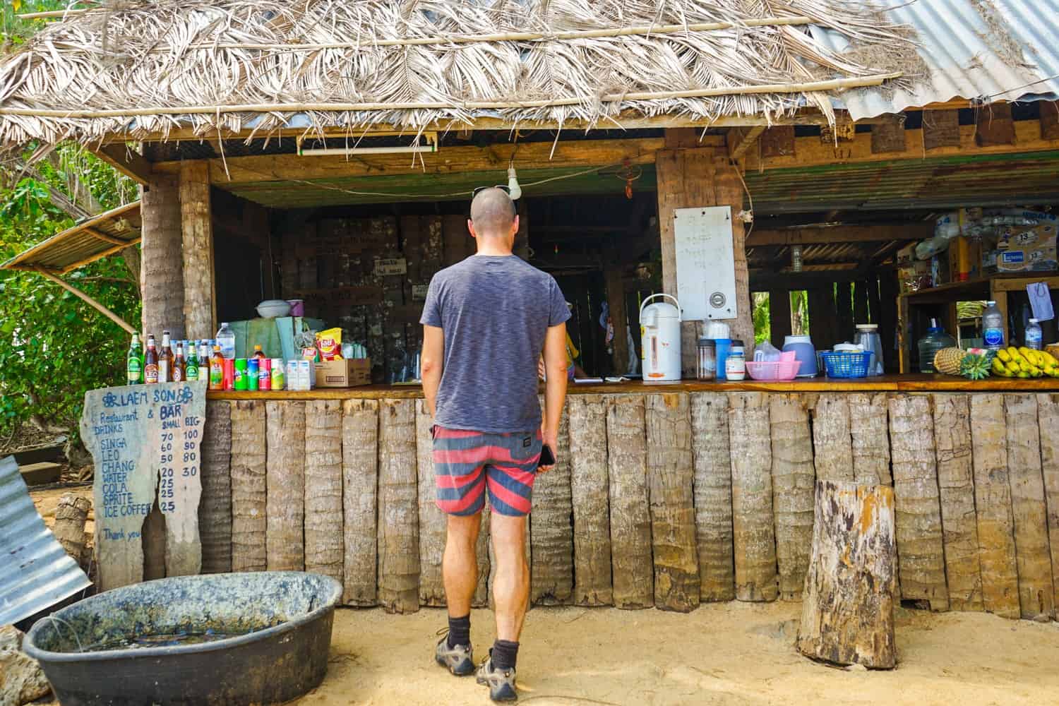
[[[98,585],[143,580],[143,523],[165,515],[165,574],[198,574],[198,504],[205,381],[92,390],[80,434],[95,461]]]

